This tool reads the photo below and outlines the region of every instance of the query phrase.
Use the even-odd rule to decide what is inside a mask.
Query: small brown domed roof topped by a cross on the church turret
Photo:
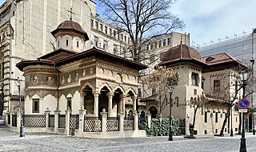
[[[58,25],[57,29],[54,29],[54,31],[51,32],[51,34],[53,34],[53,36],[55,37],[56,33],[65,30],[71,30],[80,33],[86,41],[89,40],[87,33],[82,29],[81,25],[79,25],[78,22],[72,20],[63,21],[60,25]]]

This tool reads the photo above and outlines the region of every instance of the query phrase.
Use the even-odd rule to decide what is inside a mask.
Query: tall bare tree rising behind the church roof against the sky
[[[141,62],[145,45],[172,29],[181,29],[185,24],[177,15],[171,14],[176,0],[98,0],[105,8],[105,15],[118,28],[130,36],[130,58]]]

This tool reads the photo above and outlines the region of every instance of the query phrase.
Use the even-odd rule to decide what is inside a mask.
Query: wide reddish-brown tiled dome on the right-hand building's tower
[[[177,45],[172,48],[170,48],[168,51],[166,51],[161,64],[167,64],[167,63],[174,63],[181,60],[193,60],[196,62],[201,62],[205,64],[202,61],[202,57],[198,53],[198,51],[194,48],[191,48],[188,45]]]

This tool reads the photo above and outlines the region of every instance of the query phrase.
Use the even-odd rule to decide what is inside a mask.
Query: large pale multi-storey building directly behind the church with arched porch
[[[96,14],[96,3],[91,0],[6,0],[0,6],[0,15],[0,109],[4,111],[18,111],[19,107],[15,80],[18,77],[24,80],[24,77],[15,64],[21,60],[35,60],[55,49],[69,46],[66,42],[55,42],[50,34],[62,21],[71,18],[88,34],[90,41],[76,41],[76,45],[73,44],[77,47],[72,49],[78,51],[96,47],[126,57],[126,50],[131,43],[127,33],[119,32],[114,25]],[[184,34],[170,33],[157,38],[152,51],[178,45],[180,35]],[[68,41],[72,37],[62,38]],[[189,36],[184,40],[189,41]],[[22,81],[22,95],[24,84]]]

